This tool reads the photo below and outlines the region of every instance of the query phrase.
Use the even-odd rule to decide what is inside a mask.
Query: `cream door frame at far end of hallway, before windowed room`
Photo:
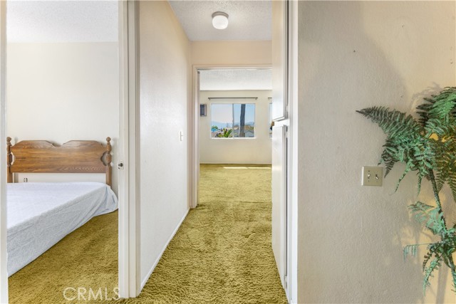
[[[190,208],[194,209],[198,205],[199,194],[199,135],[198,135],[198,121],[199,121],[199,70],[234,70],[234,69],[271,69],[271,65],[265,64],[251,64],[251,65],[240,65],[240,64],[197,64],[192,65],[192,156],[191,156],[191,168],[190,168],[190,189],[191,189],[191,201]]]

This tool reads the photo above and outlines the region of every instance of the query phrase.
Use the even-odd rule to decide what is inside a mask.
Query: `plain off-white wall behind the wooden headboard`
[[[8,43],[7,134],[14,142],[111,137],[117,163],[118,43]],[[103,174],[18,174],[28,182],[95,180]],[[118,189],[113,169],[113,190]]]

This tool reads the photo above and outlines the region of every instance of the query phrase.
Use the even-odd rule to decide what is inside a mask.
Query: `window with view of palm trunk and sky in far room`
[[[255,137],[255,105],[253,103],[212,103],[211,137]]]

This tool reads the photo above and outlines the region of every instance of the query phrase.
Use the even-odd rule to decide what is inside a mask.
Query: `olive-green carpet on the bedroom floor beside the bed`
[[[102,288],[103,297],[107,288],[108,298],[113,298],[117,273],[118,211],[114,211],[90,219],[9,277],[9,303],[76,303],[65,300],[66,288],[68,299],[77,295],[77,289],[71,288],[86,288],[87,298],[90,288],[95,293]],[[82,296],[80,300],[85,302]]]

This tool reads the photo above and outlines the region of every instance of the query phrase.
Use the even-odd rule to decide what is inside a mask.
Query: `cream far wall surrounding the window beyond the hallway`
[[[199,102],[207,105],[207,116],[199,117],[199,162],[202,164],[271,164],[269,137],[269,103],[271,90],[201,91]],[[255,137],[220,139],[211,138],[211,104],[227,100],[209,100],[209,97],[257,97],[242,103],[255,104]],[[241,103],[230,100],[229,103]]]

